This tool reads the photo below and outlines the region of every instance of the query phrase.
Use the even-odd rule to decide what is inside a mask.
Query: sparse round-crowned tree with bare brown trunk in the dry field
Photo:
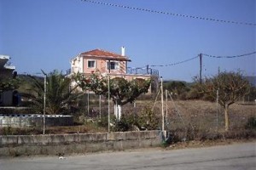
[[[230,129],[229,106],[247,94],[249,82],[242,76],[241,71],[224,71],[217,76],[207,77],[201,87],[203,92],[212,99],[217,99],[218,90],[218,104],[224,108],[225,130],[228,131]]]

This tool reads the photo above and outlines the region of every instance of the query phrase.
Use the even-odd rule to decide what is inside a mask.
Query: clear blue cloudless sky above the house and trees
[[[96,0],[218,20],[256,23],[254,0]],[[131,58],[131,67],[168,65],[198,54],[233,56],[256,51],[256,26],[195,20],[80,0],[0,0],[0,54],[19,73],[66,71],[75,55],[102,48]],[[256,76],[256,54],[234,59],[203,56],[203,76],[244,71]],[[192,81],[199,58],[152,67],[164,79]]]

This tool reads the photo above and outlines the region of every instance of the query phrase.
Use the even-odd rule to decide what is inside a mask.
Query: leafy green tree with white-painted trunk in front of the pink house
[[[108,98],[108,76],[96,71],[90,75],[78,73],[73,78],[83,90],[90,90]],[[118,121],[121,117],[122,105],[132,103],[140,94],[147,93],[150,83],[150,79],[143,78],[134,78],[131,81],[122,77],[109,78],[109,96],[113,100],[114,115]]]

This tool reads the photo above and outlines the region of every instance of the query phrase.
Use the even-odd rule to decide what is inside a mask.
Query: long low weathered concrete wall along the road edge
[[[161,131],[0,136],[0,156],[62,155],[160,146]]]

